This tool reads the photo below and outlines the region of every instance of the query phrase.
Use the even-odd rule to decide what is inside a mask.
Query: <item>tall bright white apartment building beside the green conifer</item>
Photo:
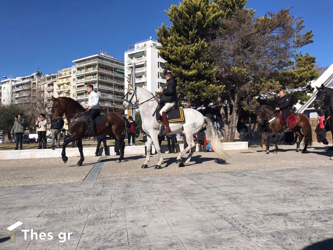
[[[161,46],[161,44],[150,38],[130,45],[129,50],[125,51],[125,75],[131,76],[133,67],[131,62],[135,62],[135,86],[143,87],[152,93],[163,88],[166,84],[166,78],[162,74],[165,69],[165,60],[160,57],[157,46]],[[125,82],[126,93],[128,89],[127,79]]]

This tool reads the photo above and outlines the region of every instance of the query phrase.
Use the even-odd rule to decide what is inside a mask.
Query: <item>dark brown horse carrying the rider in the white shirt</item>
[[[68,157],[66,156],[66,146],[68,143],[78,140],[78,148],[80,151],[80,160],[76,164],[76,166],[82,166],[84,161],[83,156],[83,147],[82,147],[82,137],[85,135],[88,125],[86,123],[85,114],[86,110],[81,106],[80,103],[73,100],[69,97],[53,97],[53,105],[52,105],[52,119],[53,121],[58,120],[58,117],[62,117],[64,114],[66,116],[68,122],[68,128],[71,132],[71,137],[64,141],[62,147],[62,157],[61,159],[64,163],[67,162]],[[102,134],[107,134],[111,138],[117,139],[118,144],[117,148],[115,148],[115,152],[120,156],[117,162],[120,162],[124,158],[124,149],[125,142],[123,139],[123,132],[125,128],[126,118],[121,116],[118,113],[107,113],[105,114],[106,123],[97,125],[97,133],[95,136],[99,136]]]

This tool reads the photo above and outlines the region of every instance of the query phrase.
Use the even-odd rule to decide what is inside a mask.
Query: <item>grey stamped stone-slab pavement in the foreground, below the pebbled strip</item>
[[[329,250],[332,176],[310,166],[1,188],[0,249]],[[5,228],[18,220],[14,244]],[[73,235],[24,240],[30,228]]]

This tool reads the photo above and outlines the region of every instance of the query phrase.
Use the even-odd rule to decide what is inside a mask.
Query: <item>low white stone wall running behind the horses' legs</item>
[[[225,150],[241,150],[247,149],[247,142],[225,142],[223,147]],[[176,150],[180,151],[184,148],[183,144],[176,144]],[[100,148],[100,152],[102,151]],[[114,147],[109,147],[110,154],[115,153]],[[152,146],[153,152],[155,152],[155,147]],[[0,160],[10,160],[10,159],[29,159],[29,158],[50,158],[50,157],[61,157],[62,149],[24,149],[24,150],[0,150]],[[161,145],[161,152],[165,153],[168,151],[167,145]],[[196,145],[196,151],[198,151],[198,145]],[[96,147],[83,148],[84,156],[94,156],[96,152]],[[145,146],[126,146],[125,155],[129,154],[145,154]],[[104,155],[104,152],[103,152]],[[74,157],[80,156],[78,148],[66,148],[66,156]]]

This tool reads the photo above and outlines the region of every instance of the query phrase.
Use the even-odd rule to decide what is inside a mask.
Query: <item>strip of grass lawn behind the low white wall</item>
[[[127,139],[125,139],[126,145],[127,145]],[[178,140],[178,142],[183,143],[183,141]],[[62,145],[62,141],[60,141],[60,145]],[[137,145],[145,145],[144,142],[136,140],[135,142]],[[96,147],[97,146],[97,141],[83,141],[82,142],[84,148],[88,147]],[[115,145],[115,140],[107,140],[108,146],[114,146]],[[167,145],[167,141],[164,140],[162,141],[162,145]],[[67,147],[70,147],[71,143],[67,145]],[[102,143],[103,146],[103,143]],[[9,143],[9,144],[0,144],[0,150],[13,150],[16,147],[16,143]],[[51,148],[51,143],[48,143],[47,148]],[[38,148],[38,143],[34,144],[23,144],[23,149],[37,149]]]

